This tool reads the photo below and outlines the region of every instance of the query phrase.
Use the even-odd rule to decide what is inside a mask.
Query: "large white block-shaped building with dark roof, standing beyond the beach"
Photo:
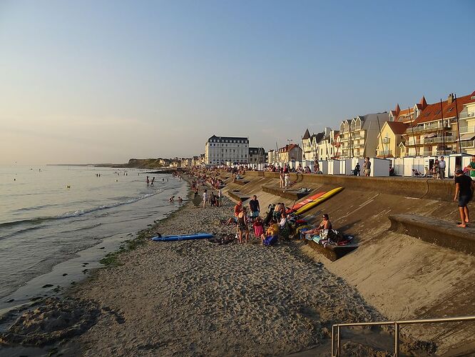
[[[234,136],[211,136],[205,144],[205,164],[247,164],[249,139]]]

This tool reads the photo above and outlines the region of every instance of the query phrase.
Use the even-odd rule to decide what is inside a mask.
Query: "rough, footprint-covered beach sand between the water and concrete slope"
[[[224,202],[188,204],[153,229],[233,236]],[[295,243],[150,241],[120,262],[73,293],[113,311],[73,341],[85,356],[286,354],[327,343],[334,322],[382,318]]]

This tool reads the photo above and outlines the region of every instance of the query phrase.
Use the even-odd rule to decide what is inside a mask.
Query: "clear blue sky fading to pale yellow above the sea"
[[[0,0],[0,164],[274,149],[475,90],[475,1]]]

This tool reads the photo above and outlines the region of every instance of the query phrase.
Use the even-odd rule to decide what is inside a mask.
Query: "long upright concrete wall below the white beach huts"
[[[262,176],[262,172],[246,171],[246,176]],[[279,178],[277,172],[264,172],[266,178]],[[438,201],[454,200],[455,186],[452,180],[434,180],[433,178],[402,177],[364,177],[344,175],[290,174],[295,186],[305,184],[343,186],[362,191],[388,193],[397,196],[427,198]],[[292,186],[292,188],[294,188]],[[475,198],[475,196],[474,196]],[[475,199],[472,198],[472,201]]]

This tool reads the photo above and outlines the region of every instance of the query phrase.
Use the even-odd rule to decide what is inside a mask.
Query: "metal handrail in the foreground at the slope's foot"
[[[445,323],[445,322],[461,322],[461,321],[475,321],[475,316],[463,316],[463,317],[449,317],[449,318],[426,318],[422,320],[405,320],[405,321],[382,321],[382,322],[358,322],[358,323],[337,323],[332,326],[332,357],[340,356],[341,351],[341,338],[340,332],[342,327],[353,326],[394,326],[394,357],[399,357],[399,327],[402,325],[414,325],[416,323]],[[335,351],[335,329],[337,350]],[[335,353],[336,352],[336,353]]]

